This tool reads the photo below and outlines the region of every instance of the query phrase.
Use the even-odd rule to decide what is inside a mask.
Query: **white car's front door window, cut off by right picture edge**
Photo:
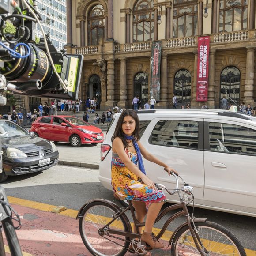
[[[234,124],[209,124],[210,149],[256,155],[256,130]]]

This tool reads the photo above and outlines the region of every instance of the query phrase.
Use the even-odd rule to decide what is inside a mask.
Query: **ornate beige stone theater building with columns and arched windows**
[[[69,0],[67,50],[83,54],[79,96],[100,109],[150,98],[151,47],[162,42],[157,108],[196,101],[198,38],[210,36],[208,101],[256,105],[255,0]],[[71,23],[72,20],[72,23]]]

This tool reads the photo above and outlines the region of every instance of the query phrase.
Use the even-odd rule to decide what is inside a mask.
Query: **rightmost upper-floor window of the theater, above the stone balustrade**
[[[219,1],[219,32],[247,29],[248,0]]]

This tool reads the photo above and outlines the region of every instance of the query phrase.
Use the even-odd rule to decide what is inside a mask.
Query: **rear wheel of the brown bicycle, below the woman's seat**
[[[107,233],[100,235],[98,230],[113,220],[113,215],[117,212],[107,202],[89,203],[82,211],[79,219],[79,231],[83,243],[90,253],[97,256],[123,256],[130,244],[128,237]],[[123,216],[117,218],[107,229],[131,232],[128,223]],[[123,240],[120,240],[123,239]]]

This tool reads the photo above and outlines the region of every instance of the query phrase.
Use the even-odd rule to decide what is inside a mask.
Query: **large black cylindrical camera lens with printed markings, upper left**
[[[41,80],[45,84],[53,73],[48,56],[37,46],[33,44],[27,45],[30,47],[30,56],[4,62],[1,73],[8,81],[26,82],[28,80]],[[20,45],[17,50],[22,56],[25,56],[28,52],[28,49],[23,45]]]

